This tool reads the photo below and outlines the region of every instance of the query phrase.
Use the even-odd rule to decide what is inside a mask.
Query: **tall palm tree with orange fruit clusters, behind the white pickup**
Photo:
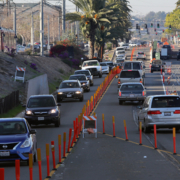
[[[94,42],[96,29],[100,23],[111,24],[117,20],[115,16],[118,9],[113,8],[115,3],[105,4],[106,0],[70,0],[75,4],[81,12],[73,12],[66,14],[66,20],[71,22],[80,21],[82,33],[90,42],[90,57],[94,56]]]

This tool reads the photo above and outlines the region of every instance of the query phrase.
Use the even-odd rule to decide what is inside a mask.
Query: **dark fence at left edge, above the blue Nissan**
[[[0,99],[0,114],[6,113],[19,104],[19,91],[13,91]]]

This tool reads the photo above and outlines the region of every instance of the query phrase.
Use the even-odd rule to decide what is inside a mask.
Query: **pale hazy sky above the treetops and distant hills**
[[[48,0],[47,0],[48,1]],[[129,0],[130,5],[132,6],[132,15],[146,15],[150,11],[158,12],[165,11],[171,12],[176,7],[176,2],[178,0]],[[39,0],[14,0],[14,2],[39,2]],[[49,0],[52,2],[52,0]],[[62,0],[56,0],[56,3],[59,4]],[[69,11],[75,10],[75,6],[66,0],[66,9]]]

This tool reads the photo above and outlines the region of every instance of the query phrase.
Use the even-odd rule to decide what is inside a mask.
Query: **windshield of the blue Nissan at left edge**
[[[0,122],[0,135],[25,134],[27,128],[22,121],[4,121]]]

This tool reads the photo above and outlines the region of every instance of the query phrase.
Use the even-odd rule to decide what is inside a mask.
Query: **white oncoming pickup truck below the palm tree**
[[[89,70],[93,76],[99,76],[99,78],[102,77],[102,67],[98,60],[86,60],[80,67],[82,70]]]

